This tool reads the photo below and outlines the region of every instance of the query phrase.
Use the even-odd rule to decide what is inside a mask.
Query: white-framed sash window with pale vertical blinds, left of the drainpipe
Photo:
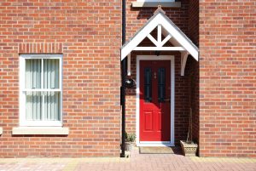
[[[62,126],[61,54],[20,55],[20,126]]]

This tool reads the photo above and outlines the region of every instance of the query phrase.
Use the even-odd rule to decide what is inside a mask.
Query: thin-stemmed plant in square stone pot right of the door
[[[198,145],[192,140],[192,109],[189,113],[189,131],[187,140],[180,140],[180,145],[185,157],[195,157]]]

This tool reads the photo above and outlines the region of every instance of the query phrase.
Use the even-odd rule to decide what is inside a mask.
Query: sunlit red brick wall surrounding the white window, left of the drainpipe
[[[0,157],[119,156],[121,3],[61,2],[0,3]],[[67,136],[12,135],[19,126],[19,53],[63,54]]]

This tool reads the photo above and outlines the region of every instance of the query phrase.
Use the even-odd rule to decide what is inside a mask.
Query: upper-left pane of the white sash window
[[[41,88],[41,60],[26,60],[25,88]]]

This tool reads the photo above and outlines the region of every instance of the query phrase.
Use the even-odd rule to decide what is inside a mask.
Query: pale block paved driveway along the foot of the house
[[[129,158],[0,158],[0,171],[15,170],[210,170],[256,171],[256,158],[183,157],[177,154],[139,154]]]

